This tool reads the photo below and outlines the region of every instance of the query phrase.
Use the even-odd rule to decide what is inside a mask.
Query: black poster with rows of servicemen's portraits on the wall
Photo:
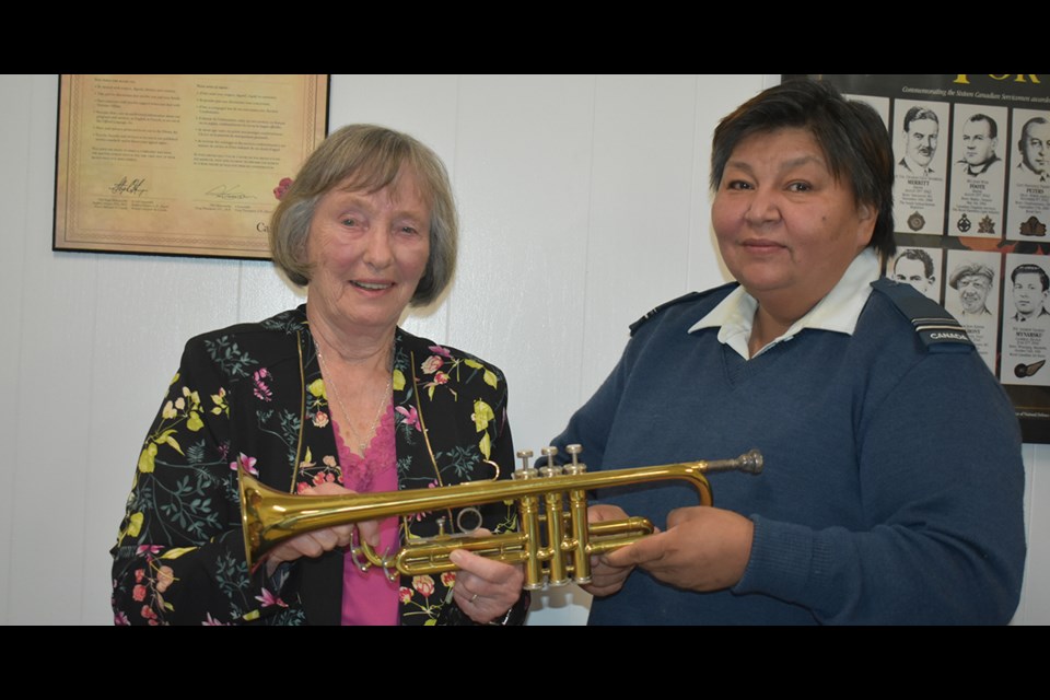
[[[870,103],[889,129],[887,275],[962,324],[1025,442],[1050,443],[1050,74],[810,78]]]

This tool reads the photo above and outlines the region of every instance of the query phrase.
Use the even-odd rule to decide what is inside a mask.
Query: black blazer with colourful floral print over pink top
[[[497,368],[398,329],[393,392],[400,489],[491,479],[486,459],[509,476],[506,382]],[[265,567],[249,575],[236,471],[243,465],[290,493],[341,482],[329,416],[305,306],[191,339],[143,442],[110,550],[115,621],[338,625],[342,552],[282,564],[270,579]],[[480,510],[493,532],[516,526],[508,504]],[[435,535],[438,518],[454,515],[402,517],[401,538]],[[454,605],[454,583],[455,573],[402,576],[401,622],[433,625]]]

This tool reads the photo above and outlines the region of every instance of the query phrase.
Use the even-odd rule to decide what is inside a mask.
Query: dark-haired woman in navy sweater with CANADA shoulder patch
[[[758,447],[766,468],[713,475],[713,508],[677,486],[593,506],[666,525],[600,559],[593,623],[1010,620],[1017,422],[958,324],[879,279],[892,168],[878,115],[825,84],[772,88],[719,125],[712,220],[736,283],[634,325],[555,444],[604,468]]]

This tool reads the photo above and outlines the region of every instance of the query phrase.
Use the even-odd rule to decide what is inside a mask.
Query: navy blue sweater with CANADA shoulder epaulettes
[[[751,517],[732,590],[699,594],[634,571],[591,623],[1005,623],[1025,560],[1020,433],[970,346],[926,348],[883,293],[852,336],[807,329],[746,361],[688,328],[728,292],[668,307],[553,444],[593,469],[765,455],[710,477]],[[962,350],[960,352],[960,350]],[[682,485],[604,494],[664,527]]]

